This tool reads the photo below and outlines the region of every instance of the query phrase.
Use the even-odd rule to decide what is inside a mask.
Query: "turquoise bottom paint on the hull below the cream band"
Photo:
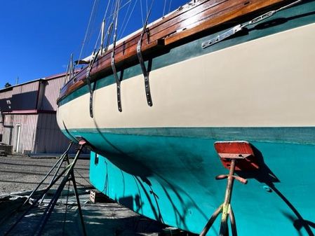
[[[193,130],[70,132],[102,153],[91,153],[95,188],[133,211],[195,233],[224,200],[227,181],[215,176],[228,170],[213,143],[245,139],[260,170],[237,173],[248,179],[247,185],[236,181],[232,193],[239,235],[314,235],[314,127]],[[218,230],[219,219],[208,235],[218,235]]]

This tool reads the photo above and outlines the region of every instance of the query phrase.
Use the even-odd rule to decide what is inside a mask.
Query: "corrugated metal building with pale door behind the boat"
[[[69,141],[56,121],[65,74],[0,90],[0,137],[15,153],[62,153]]]

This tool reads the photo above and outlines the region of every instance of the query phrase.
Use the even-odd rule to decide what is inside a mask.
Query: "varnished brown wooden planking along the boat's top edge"
[[[288,4],[288,0],[200,0],[190,2],[177,11],[170,13],[165,18],[148,27],[148,34],[142,38],[143,55],[149,55],[159,47],[171,48],[175,43],[204,32],[223,23],[237,20],[246,15],[261,13],[267,8]],[[123,68],[138,62],[137,43],[141,32],[130,36],[125,41],[116,45],[116,67]],[[192,39],[193,40],[193,39]],[[91,80],[112,74],[112,50],[108,50],[93,64]],[[83,68],[72,78],[60,92],[60,99],[86,84],[86,69]]]

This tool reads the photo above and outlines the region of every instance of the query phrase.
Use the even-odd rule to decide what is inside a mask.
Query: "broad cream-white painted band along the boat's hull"
[[[315,24],[194,57],[60,106],[63,129],[115,127],[300,127],[315,125]]]

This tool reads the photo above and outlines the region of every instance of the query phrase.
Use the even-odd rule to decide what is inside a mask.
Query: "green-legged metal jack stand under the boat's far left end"
[[[51,213],[53,212],[55,204],[57,204],[57,202],[58,202],[58,199],[60,197],[60,194],[62,193],[62,190],[65,188],[65,185],[66,185],[66,183],[68,181],[72,181],[73,186],[74,186],[74,194],[75,194],[75,197],[76,197],[76,202],[78,204],[78,210],[79,210],[79,215],[80,215],[83,235],[86,236],[86,228],[85,228],[84,221],[83,221],[83,214],[82,214],[82,210],[81,210],[79,194],[78,194],[78,191],[76,189],[76,181],[74,179],[74,165],[76,164],[76,161],[78,160],[79,155],[81,154],[83,146],[86,145],[86,141],[81,140],[79,142],[79,144],[80,144],[80,147],[79,147],[78,151],[76,152],[74,160],[72,160],[71,163],[69,162],[69,159],[67,158],[67,151],[69,151],[69,148],[71,147],[72,144],[69,145],[69,147],[67,148],[67,151],[64,154],[62,154],[62,156],[60,157],[58,162],[56,162],[55,165],[54,165],[54,167],[56,167],[61,160],[62,160],[62,162],[67,160],[67,162],[68,162],[67,167],[65,167],[65,169],[63,169],[62,172],[60,174],[58,174],[58,171],[60,169],[60,166],[61,166],[62,162],[60,163],[60,165],[58,166],[58,169],[57,169],[57,171],[55,173],[55,176],[51,180],[51,183],[49,184],[49,186],[45,190],[43,190],[43,193],[41,193],[41,195],[39,195],[39,197],[37,197],[36,200],[34,200],[34,202],[32,202],[32,205],[29,206],[29,208],[22,214],[22,216],[20,216],[20,218],[18,218],[18,220],[11,226],[11,228],[9,228],[9,230],[5,233],[5,235],[8,235],[13,230],[13,228],[15,228],[16,225],[18,225],[18,223],[22,220],[22,218],[24,218],[24,216],[26,216],[28,214],[28,212],[39,202],[39,200],[41,200],[41,201],[43,200],[43,197],[46,195],[46,193],[48,193],[48,190],[50,190],[51,187],[63,175],[65,175],[65,176],[63,176],[63,179],[62,179],[60,185],[58,186],[58,189],[56,190],[55,194],[53,195],[53,198],[51,199],[51,202],[49,202],[46,210],[44,211],[43,216],[41,217],[41,221],[39,222],[39,224],[35,228],[33,235],[41,235],[42,234],[43,228],[45,227],[45,225],[46,225],[46,223],[48,221],[48,218],[51,216]],[[53,168],[50,170],[50,172],[53,171]],[[48,174],[45,176],[43,181],[46,179]],[[57,176],[57,174],[58,174],[58,176]],[[39,183],[39,186],[43,183],[43,181],[41,181],[41,183]],[[39,188],[39,186],[37,186],[35,188],[35,190],[37,190]],[[34,194],[35,190],[31,193],[31,195],[29,195],[29,197],[27,198],[27,201],[25,201],[25,202],[29,201],[30,197],[32,197],[32,195]]]

